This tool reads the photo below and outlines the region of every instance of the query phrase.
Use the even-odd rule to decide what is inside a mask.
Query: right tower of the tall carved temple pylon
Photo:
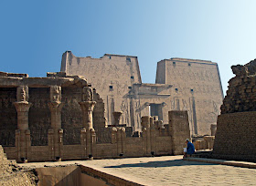
[[[156,83],[169,84],[170,109],[188,110],[193,134],[210,134],[220,113],[223,93],[217,63],[211,61],[171,58],[157,64]]]

